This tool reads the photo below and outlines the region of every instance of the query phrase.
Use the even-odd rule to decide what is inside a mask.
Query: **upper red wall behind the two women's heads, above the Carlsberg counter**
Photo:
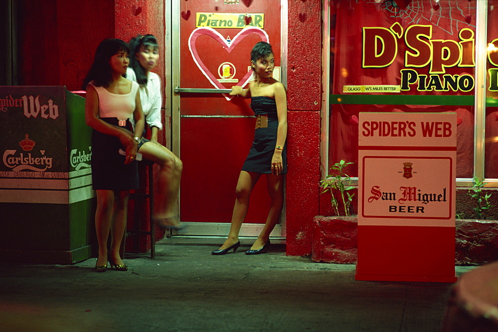
[[[163,0],[18,0],[19,85],[80,90],[106,38],[128,42],[138,33],[164,36]],[[164,56],[164,48],[160,50]],[[164,64],[155,70],[164,84]]]

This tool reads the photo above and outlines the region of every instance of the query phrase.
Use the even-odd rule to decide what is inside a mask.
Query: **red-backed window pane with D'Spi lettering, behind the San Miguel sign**
[[[452,111],[459,123],[457,177],[472,178],[475,1],[330,5],[329,165],[358,164],[359,112]],[[383,92],[391,89],[399,92]]]

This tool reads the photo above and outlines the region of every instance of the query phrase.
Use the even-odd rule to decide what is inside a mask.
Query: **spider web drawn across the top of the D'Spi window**
[[[444,34],[455,35],[463,28],[476,26],[465,20],[466,15],[476,12],[476,1],[440,0],[437,2],[438,9],[433,7],[436,3],[434,0],[412,0],[405,9],[401,9],[396,4],[396,0],[339,0],[337,2],[375,3],[377,10],[382,11],[389,22],[402,20],[403,25],[432,25],[433,29],[441,29],[440,32]]]

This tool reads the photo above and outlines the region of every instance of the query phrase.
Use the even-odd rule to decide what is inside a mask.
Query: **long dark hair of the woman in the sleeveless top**
[[[113,70],[109,60],[116,53],[124,51],[129,54],[129,47],[121,39],[104,39],[95,51],[94,62],[87,76],[83,80],[82,89],[87,88],[88,83],[94,81],[97,87],[107,87],[113,80]]]

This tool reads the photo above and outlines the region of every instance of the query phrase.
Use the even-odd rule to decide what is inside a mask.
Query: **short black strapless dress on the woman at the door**
[[[255,115],[268,114],[268,126],[254,130],[249,155],[242,166],[246,172],[271,174],[271,158],[277,141],[278,117],[275,100],[269,97],[251,97],[250,107]],[[282,151],[282,173],[287,173],[287,147]]]

